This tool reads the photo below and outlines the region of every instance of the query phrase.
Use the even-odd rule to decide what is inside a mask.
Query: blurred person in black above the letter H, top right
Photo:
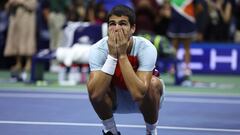
[[[233,18],[233,0],[206,0],[208,18],[205,41],[230,41],[230,25]]]

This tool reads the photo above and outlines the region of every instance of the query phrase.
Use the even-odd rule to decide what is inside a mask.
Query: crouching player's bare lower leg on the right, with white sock
[[[156,125],[160,108],[160,98],[163,95],[163,82],[153,76],[144,99],[140,102],[140,111],[146,122],[147,134],[157,134]]]

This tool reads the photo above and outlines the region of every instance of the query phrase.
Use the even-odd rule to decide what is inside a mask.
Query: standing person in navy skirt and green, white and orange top
[[[183,43],[185,50],[184,62],[185,76],[192,74],[190,61],[190,44],[196,34],[196,14],[201,11],[201,4],[198,0],[170,0],[172,7],[168,36],[177,52],[180,43]]]

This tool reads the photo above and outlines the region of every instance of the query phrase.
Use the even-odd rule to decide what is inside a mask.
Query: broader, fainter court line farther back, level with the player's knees
[[[180,95],[181,96],[181,95]],[[44,98],[44,99],[88,99],[87,94],[57,94],[57,93],[0,93],[5,98]],[[214,99],[205,97],[165,97],[166,102],[177,103],[207,103],[207,104],[240,104],[240,99]]]

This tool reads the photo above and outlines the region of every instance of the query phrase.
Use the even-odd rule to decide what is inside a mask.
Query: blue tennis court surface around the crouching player
[[[0,88],[1,89],[1,88]],[[239,135],[240,97],[167,93],[159,135]],[[122,135],[145,135],[141,114],[115,114]],[[101,135],[84,92],[0,90],[1,135]]]

